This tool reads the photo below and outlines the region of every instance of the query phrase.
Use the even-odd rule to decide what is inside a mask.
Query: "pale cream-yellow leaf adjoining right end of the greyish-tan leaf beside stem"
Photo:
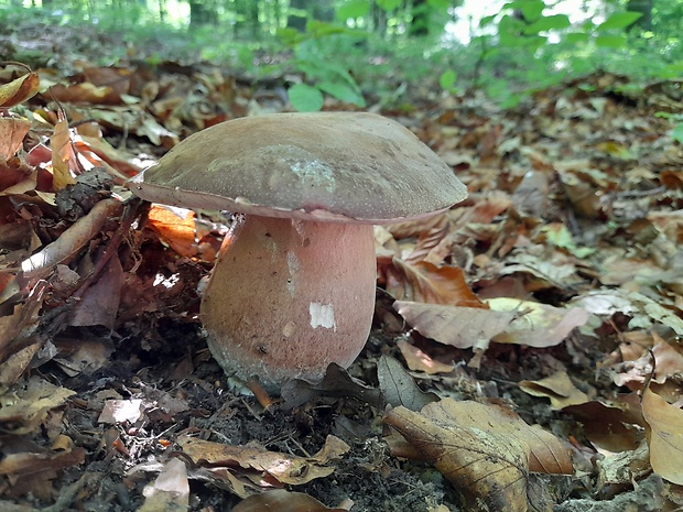
[[[499,344],[553,347],[561,344],[575,327],[588,322],[590,313],[581,307],[554,307],[517,298],[491,298],[487,304],[496,312],[514,313],[514,319],[494,336]]]

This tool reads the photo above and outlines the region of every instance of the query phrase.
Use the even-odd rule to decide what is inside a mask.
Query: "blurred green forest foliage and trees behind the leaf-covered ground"
[[[297,110],[325,97],[410,108],[416,89],[479,89],[514,107],[596,70],[628,76],[635,96],[683,76],[683,0],[0,0],[0,40],[26,22],[122,37],[83,32],[82,44],[107,46],[94,64],[210,61],[253,83],[284,79]],[[15,46],[0,55],[58,66]]]

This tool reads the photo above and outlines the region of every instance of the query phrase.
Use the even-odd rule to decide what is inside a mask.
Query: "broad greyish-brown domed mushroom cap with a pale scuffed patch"
[[[388,224],[463,200],[410,130],[365,112],[240,118],[196,133],[131,179],[143,199],[313,221]]]

